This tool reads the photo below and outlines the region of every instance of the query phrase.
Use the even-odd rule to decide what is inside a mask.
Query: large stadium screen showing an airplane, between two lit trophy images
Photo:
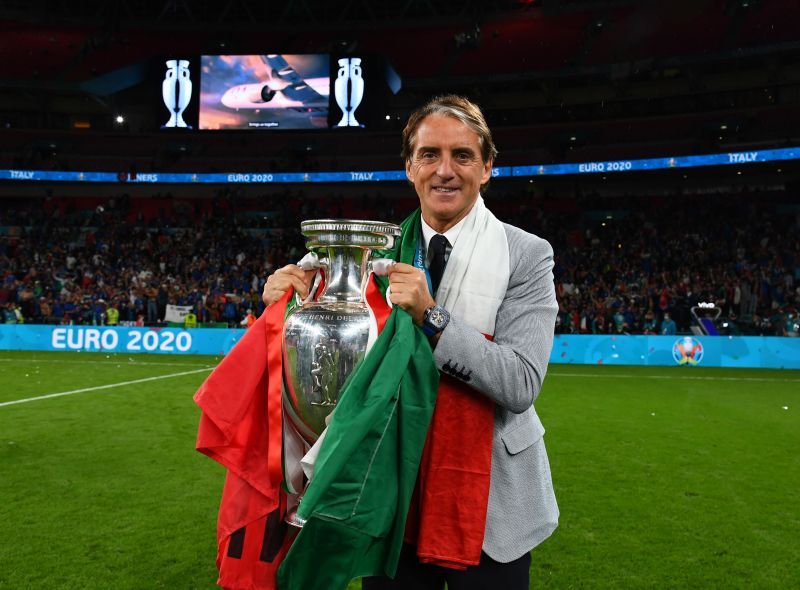
[[[330,56],[204,55],[200,129],[328,127]]]

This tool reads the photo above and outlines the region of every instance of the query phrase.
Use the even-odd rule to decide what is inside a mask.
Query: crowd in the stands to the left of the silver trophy
[[[243,231],[225,198],[151,220],[125,197],[89,211],[47,205],[0,213],[12,228],[0,240],[7,322],[152,325],[173,304],[191,305],[199,324],[236,326],[261,312],[265,277],[302,247],[280,214],[261,235]]]

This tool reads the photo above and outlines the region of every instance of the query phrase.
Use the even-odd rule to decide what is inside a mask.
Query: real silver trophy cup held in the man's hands
[[[315,219],[300,224],[306,248],[319,257],[324,286],[283,327],[283,411],[313,445],[336,408],[348,376],[367,353],[374,319],[364,300],[373,250],[394,247],[400,227],[380,221]],[[302,527],[296,511],[287,522]]]

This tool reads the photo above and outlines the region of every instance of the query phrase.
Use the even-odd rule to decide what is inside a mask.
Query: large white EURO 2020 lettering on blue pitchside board
[[[56,350],[186,352],[192,347],[192,335],[186,331],[71,326],[55,328],[50,343]]]

